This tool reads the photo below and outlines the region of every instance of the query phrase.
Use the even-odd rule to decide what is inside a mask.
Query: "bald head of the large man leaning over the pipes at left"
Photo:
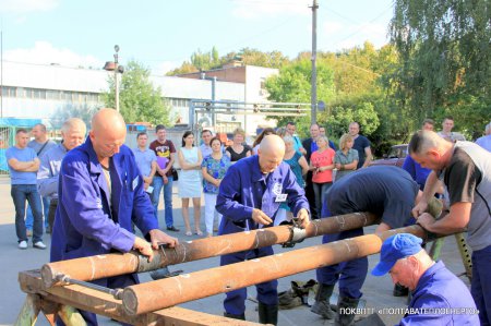
[[[122,116],[115,109],[100,109],[92,118],[88,133],[94,150],[101,161],[119,153],[127,137],[127,125]]]

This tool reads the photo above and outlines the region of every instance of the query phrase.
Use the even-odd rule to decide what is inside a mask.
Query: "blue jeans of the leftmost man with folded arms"
[[[41,198],[37,192],[36,184],[12,184],[10,194],[15,206],[15,232],[17,233],[19,242],[27,241],[27,233],[25,228],[25,201],[27,201],[33,208],[34,228],[33,228],[33,243],[41,241],[43,237],[43,208]]]

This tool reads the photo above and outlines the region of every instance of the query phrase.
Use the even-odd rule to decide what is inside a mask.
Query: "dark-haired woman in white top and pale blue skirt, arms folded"
[[[194,134],[187,131],[182,136],[182,147],[178,150],[179,165],[181,172],[179,174],[179,197],[182,201],[182,217],[184,219],[185,236],[192,236],[189,221],[189,198],[193,200],[194,207],[194,232],[203,236],[200,228],[201,219],[201,162],[203,157],[201,150],[194,147]]]

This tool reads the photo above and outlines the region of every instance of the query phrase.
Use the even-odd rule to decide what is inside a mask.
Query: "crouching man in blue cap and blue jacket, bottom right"
[[[409,233],[387,238],[372,275],[391,274],[394,283],[412,292],[399,325],[479,325],[478,310],[469,290],[443,262],[434,262]]]

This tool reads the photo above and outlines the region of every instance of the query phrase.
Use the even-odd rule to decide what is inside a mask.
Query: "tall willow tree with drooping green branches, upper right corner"
[[[471,131],[490,119],[491,2],[396,0],[391,38],[400,68],[394,102],[414,119],[453,114]]]

